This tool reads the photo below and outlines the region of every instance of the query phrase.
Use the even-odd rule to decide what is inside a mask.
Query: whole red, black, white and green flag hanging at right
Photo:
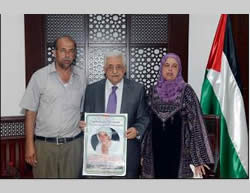
[[[220,177],[248,178],[248,130],[232,25],[221,15],[202,85],[204,114],[219,115]]]

